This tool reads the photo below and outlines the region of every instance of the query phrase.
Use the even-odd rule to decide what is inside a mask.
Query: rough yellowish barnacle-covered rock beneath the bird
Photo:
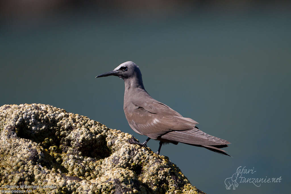
[[[32,193],[203,193],[168,157],[131,137],[50,105],[3,105],[1,185]]]

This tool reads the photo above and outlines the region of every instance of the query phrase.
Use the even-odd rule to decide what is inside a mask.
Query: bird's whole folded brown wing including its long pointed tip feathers
[[[139,94],[138,94],[139,95]],[[169,106],[149,95],[134,96],[132,103],[136,109],[131,113],[133,127],[142,134],[156,139],[166,139],[191,145],[225,145],[228,141],[200,131],[198,122],[184,118]]]

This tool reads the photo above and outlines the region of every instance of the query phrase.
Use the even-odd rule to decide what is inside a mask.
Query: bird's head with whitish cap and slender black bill
[[[127,61],[125,63],[118,65],[118,67],[116,67],[114,70],[110,72],[102,73],[96,76],[96,78],[106,77],[110,75],[115,75],[125,80],[125,79],[134,78],[134,77],[137,77],[137,78],[141,77],[141,71],[139,70],[139,66],[137,66],[134,62]]]

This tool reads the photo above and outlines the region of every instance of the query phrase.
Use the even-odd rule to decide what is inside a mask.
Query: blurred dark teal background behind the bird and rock
[[[0,106],[42,103],[139,136],[123,112],[124,83],[95,79],[134,61],[145,89],[233,157],[182,143],[161,154],[206,193],[290,192],[289,1],[0,1]],[[148,146],[157,151],[158,142]],[[224,180],[282,178],[256,187]]]

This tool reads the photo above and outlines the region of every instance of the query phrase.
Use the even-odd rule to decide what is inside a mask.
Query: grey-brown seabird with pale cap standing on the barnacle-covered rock
[[[230,156],[223,147],[230,142],[208,135],[196,127],[198,122],[191,118],[184,118],[172,108],[152,98],[143,86],[139,66],[132,61],[118,65],[114,70],[102,73],[95,78],[118,76],[124,80],[123,109],[129,126],[140,135],[148,138],[140,143],[134,136],[129,143],[147,147],[150,139],[159,140],[160,154],[164,143],[184,143],[197,147],[204,147],[213,152]]]

